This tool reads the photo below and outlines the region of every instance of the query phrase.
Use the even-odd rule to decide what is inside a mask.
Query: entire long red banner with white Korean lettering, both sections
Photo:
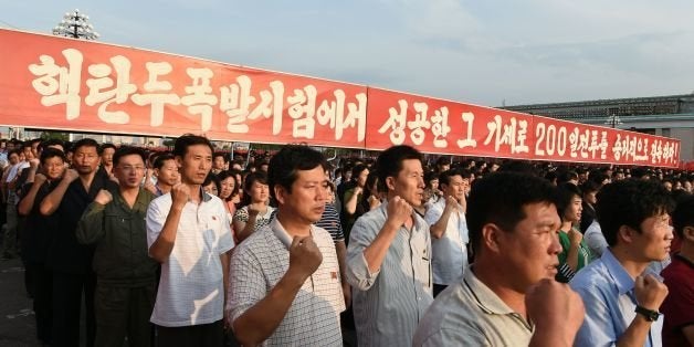
[[[677,167],[680,141],[504,109],[0,29],[0,124]]]

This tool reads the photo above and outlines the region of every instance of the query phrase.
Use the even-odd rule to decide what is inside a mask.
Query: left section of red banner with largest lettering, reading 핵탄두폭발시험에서
[[[366,87],[0,30],[0,123],[364,147]]]

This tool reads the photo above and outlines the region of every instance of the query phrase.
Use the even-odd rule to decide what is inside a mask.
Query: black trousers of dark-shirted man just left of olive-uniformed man
[[[84,293],[86,347],[94,347],[96,319],[94,317],[94,273],[76,275],[53,272],[53,344],[54,347],[75,347],[80,344],[80,312]]]

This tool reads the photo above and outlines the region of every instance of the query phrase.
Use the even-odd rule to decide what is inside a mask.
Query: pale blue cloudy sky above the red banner
[[[50,33],[485,106],[694,92],[694,1],[0,0]]]

